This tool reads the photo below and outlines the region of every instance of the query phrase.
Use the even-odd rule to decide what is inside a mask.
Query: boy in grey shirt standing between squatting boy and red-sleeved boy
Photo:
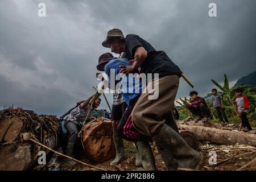
[[[217,89],[212,89],[212,95],[213,107],[217,111],[218,118],[221,121],[221,125],[228,125],[229,121],[226,117],[221,96],[218,94]]]

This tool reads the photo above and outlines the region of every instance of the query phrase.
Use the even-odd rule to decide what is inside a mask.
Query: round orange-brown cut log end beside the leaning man
[[[105,162],[115,156],[112,122],[99,118],[88,123],[81,131],[86,158],[94,163]]]

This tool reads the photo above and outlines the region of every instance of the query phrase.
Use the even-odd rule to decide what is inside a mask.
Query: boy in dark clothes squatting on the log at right
[[[192,114],[196,115],[195,122],[198,122],[201,118],[203,118],[203,122],[207,122],[210,117],[210,110],[204,98],[199,97],[196,91],[191,91],[189,96],[191,96],[191,100],[185,106]]]

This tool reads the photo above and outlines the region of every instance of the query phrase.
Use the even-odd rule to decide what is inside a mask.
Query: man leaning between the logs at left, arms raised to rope
[[[67,130],[68,138],[67,138],[67,145],[64,146],[64,154],[68,156],[72,156],[73,149],[77,142],[77,137],[79,131],[82,129],[84,120],[87,116],[85,123],[92,121],[94,118],[92,116],[92,111],[96,109],[100,103],[101,99],[97,98],[90,108],[89,102],[93,96],[89,97],[88,100],[77,102],[77,106],[73,107],[67,113],[60,117],[62,132],[65,133],[63,130]],[[71,162],[71,161],[70,161]]]

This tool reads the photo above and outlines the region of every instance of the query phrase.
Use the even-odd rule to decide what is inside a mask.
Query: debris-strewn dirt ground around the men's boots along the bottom
[[[152,144],[152,149],[155,154],[156,166],[158,170],[160,171],[166,170],[162,157],[159,154],[157,148],[154,147],[154,144]],[[256,157],[256,147],[244,146],[241,144],[240,145],[237,144],[234,146],[226,146],[226,145],[216,145],[210,142],[200,142],[200,152],[203,152],[203,154],[205,155],[205,161],[204,161],[203,167],[200,169],[201,171],[235,171],[245,166],[245,164],[251,162]],[[126,153],[126,158],[124,158],[122,162],[117,164],[116,166],[112,166],[112,167],[109,166],[112,160],[109,160],[104,163],[92,164],[92,165],[96,167],[104,168],[110,171],[137,170],[138,167],[135,166],[136,150],[133,142],[125,142],[125,153]],[[84,159],[84,157],[79,158],[79,160],[81,160],[82,162],[91,164],[88,160]],[[71,167],[71,166],[67,166],[66,163],[59,163],[59,169],[75,170],[75,171],[98,170],[92,167],[84,166],[82,164],[76,164],[75,166]],[[251,163],[245,168],[242,168],[241,170],[255,171],[256,161],[254,160],[253,163]]]

